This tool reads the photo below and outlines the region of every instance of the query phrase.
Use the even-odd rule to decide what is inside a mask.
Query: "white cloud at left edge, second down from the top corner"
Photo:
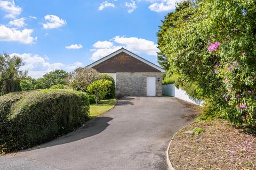
[[[23,44],[33,44],[37,40],[37,37],[31,36],[33,31],[32,29],[18,30],[0,25],[0,41],[19,41]]]

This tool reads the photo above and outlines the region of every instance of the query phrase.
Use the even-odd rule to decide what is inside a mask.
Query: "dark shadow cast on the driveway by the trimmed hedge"
[[[79,128],[75,132],[69,133],[59,139],[55,139],[53,141],[43,143],[42,145],[30,148],[30,149],[22,150],[20,152],[42,149],[42,148],[52,147],[56,145],[62,145],[65,143],[74,142],[77,140],[91,137],[95,134],[98,134],[104,131],[109,125],[108,122],[111,120],[113,120],[113,118],[111,117],[103,117],[103,116],[95,117],[93,122],[89,126],[84,126],[83,128]]]

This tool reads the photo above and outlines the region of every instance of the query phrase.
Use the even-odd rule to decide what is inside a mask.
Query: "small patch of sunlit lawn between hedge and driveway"
[[[90,118],[97,117],[115,106],[116,99],[101,100],[98,105],[90,105]]]

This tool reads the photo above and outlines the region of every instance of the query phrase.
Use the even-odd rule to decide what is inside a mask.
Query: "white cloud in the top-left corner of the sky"
[[[11,1],[0,0],[0,8],[2,8],[2,10],[7,13],[5,15],[6,18],[16,18],[16,16],[18,16],[22,11],[22,8],[19,6],[16,6],[13,0]]]

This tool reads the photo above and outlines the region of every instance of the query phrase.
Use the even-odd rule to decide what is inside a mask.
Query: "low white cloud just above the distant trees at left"
[[[73,71],[78,67],[82,67],[81,62],[75,62],[73,64],[63,64],[63,63],[49,63],[45,61],[45,57],[39,55],[33,55],[29,53],[24,54],[11,54],[18,55],[25,62],[25,65],[21,67],[22,70],[28,70],[28,75],[33,78],[41,78],[44,74],[54,71],[56,69],[63,69],[67,72]]]

